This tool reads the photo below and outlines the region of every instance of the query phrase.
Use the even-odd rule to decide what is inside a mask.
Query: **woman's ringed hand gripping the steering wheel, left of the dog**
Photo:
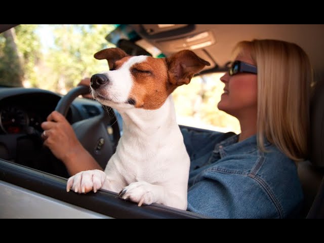
[[[84,150],[71,125],[59,112],[53,111],[41,126],[44,129],[44,145],[64,164],[80,150]]]

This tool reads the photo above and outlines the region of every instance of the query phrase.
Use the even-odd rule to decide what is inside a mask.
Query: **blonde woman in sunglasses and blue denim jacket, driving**
[[[235,53],[221,77],[218,108],[237,117],[241,134],[182,130],[191,159],[188,210],[215,218],[294,217],[303,200],[296,163],[308,157],[309,59],[295,44],[267,39],[240,42]],[[69,173],[98,169],[65,118],[53,112],[51,119],[57,123],[42,124],[45,145]]]

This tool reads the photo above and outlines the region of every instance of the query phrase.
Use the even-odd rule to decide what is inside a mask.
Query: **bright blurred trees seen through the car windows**
[[[18,25],[0,34],[0,86],[66,94],[84,77],[108,68],[93,55],[115,47],[106,40],[117,24]],[[161,55],[156,52],[154,57]],[[173,93],[178,123],[240,133],[238,120],[217,109],[223,73],[194,77]]]

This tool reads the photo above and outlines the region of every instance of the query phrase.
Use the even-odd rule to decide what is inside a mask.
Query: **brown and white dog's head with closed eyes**
[[[109,71],[91,77],[92,94],[102,104],[116,107],[157,109],[178,87],[209,62],[189,50],[169,58],[128,56],[119,48],[104,49],[96,59],[107,59]]]

